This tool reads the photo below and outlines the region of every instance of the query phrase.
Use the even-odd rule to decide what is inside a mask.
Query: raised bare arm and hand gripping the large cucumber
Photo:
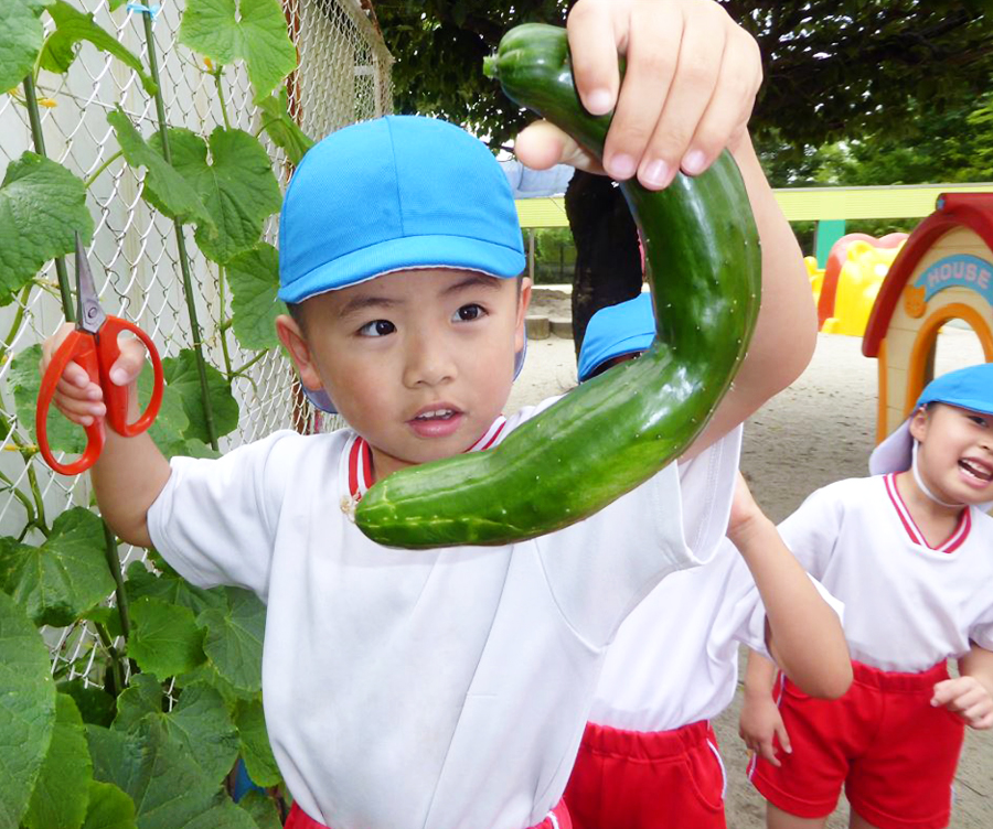
[[[761,55],[714,0],[578,0],[567,29],[584,106],[594,114],[615,111],[605,165],[547,121],[517,136],[514,152],[524,164],[567,163],[601,173],[606,166],[616,180],[637,174],[659,190],[679,169],[697,174],[728,148],[748,191],[762,246],[761,311],[734,387],[690,448],[692,456],[797,379],[816,343],[803,256],[747,132]],[[622,85],[618,54],[627,60]]]

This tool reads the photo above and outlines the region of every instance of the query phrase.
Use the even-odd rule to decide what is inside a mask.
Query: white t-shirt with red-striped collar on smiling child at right
[[[917,672],[993,649],[993,518],[963,510],[931,548],[894,475],[850,478],[813,493],[779,527],[800,562],[845,603],[852,658]]]

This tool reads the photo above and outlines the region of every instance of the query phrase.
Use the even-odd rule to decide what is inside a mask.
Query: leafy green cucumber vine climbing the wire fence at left
[[[122,3],[110,0],[110,10]],[[259,137],[291,163],[311,143],[288,115],[285,79],[297,52],[279,0],[186,0],[178,49],[192,50],[213,77],[222,114],[206,137],[169,125],[154,9],[129,8],[147,63],[66,0],[6,0],[0,12],[0,89],[26,110],[32,144],[0,184],[0,304],[17,303],[0,344],[0,363],[10,363],[3,409],[17,415],[0,413],[0,429],[26,467],[0,472],[0,489],[24,514],[17,532],[0,537],[0,744],[10,755],[0,829],[270,829],[280,825],[273,798],[253,792],[236,805],[225,785],[238,757],[255,783],[280,784],[261,710],[263,605],[245,591],[193,588],[153,550],[152,567],[135,561],[121,572],[117,539],[95,510],[46,513],[32,434],[40,346],[14,354],[33,292],[55,293],[72,320],[65,256],[76,233],[92,240],[87,191],[121,157],[143,171],[145,201],[172,222],[189,317],[190,347],[163,360],[168,386],[152,428],[163,452],[215,454],[238,422],[232,383],[276,346],[277,256],[261,235],[281,195]],[[119,151],[86,181],[47,157],[42,107],[57,96],[39,87],[41,69],[74,71],[83,42],[134,72],[156,110],[150,134],[121,108],[108,112]],[[256,134],[228,120],[223,72],[239,62],[261,116]],[[222,310],[213,334],[221,366],[203,353],[191,225],[216,268],[222,308],[229,292],[232,316]],[[39,277],[53,259],[57,286]],[[232,364],[229,336],[255,352],[245,365]],[[57,415],[49,429],[56,451],[82,449],[82,431]],[[96,636],[53,672],[50,648],[84,631]]]

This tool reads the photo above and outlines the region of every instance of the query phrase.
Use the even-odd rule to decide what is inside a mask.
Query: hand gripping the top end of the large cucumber
[[[543,170],[567,163],[618,181],[636,173],[662,190],[735,149],[762,80],[755,40],[714,0],[578,0],[567,23],[587,110],[615,110],[601,166],[547,121],[517,136],[515,153]],[[627,60],[621,86],[617,57]]]

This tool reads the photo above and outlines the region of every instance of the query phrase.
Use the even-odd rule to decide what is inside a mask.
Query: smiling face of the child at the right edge
[[[942,500],[993,500],[993,415],[937,403],[910,421],[917,463]]]

